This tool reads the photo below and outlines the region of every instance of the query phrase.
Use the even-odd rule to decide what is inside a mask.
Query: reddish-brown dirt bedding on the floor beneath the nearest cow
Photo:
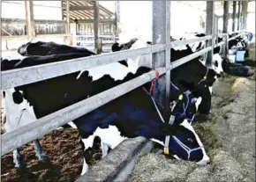
[[[5,182],[72,182],[79,178],[83,164],[83,151],[77,129],[66,128],[50,132],[40,139],[41,147],[48,156],[42,163],[35,156],[33,143],[21,148],[26,162],[26,171],[18,171],[12,162],[12,152],[1,157],[1,181]],[[94,140],[92,158],[94,165],[102,157],[100,139]]]

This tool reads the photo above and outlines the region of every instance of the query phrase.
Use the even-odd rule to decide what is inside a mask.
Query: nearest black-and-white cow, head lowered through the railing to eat
[[[141,45],[144,46],[145,43],[136,41],[131,48],[138,48]],[[19,69],[44,62],[48,63],[50,59],[52,62],[70,59],[69,56],[70,54],[68,54],[68,58],[65,57],[65,54],[29,56],[26,59],[16,61],[15,64],[3,61],[1,67],[4,70]],[[71,106],[148,72],[151,70],[151,55],[141,55],[134,60],[128,59],[127,65],[124,66],[120,62],[110,63],[6,90],[5,108],[7,117],[4,126],[5,131],[10,132],[35,119],[54,113],[66,106]],[[145,87],[148,88],[147,85]],[[92,147],[94,136],[99,135],[102,139],[103,156],[106,155],[106,145],[113,149],[122,141],[117,140],[118,136],[121,138],[121,135],[125,137],[144,136],[160,143],[164,141],[166,135],[171,135],[169,143],[165,143],[169,148],[169,155],[185,160],[198,161],[199,164],[207,164],[209,158],[200,142],[200,138],[186,120],[196,112],[201,98],[196,98],[188,92],[185,95],[184,93],[180,95],[182,97],[179,97],[176,105],[172,108],[172,112],[169,111],[166,117],[162,116],[162,112],[158,112],[161,108],[155,104],[154,99],[147,94],[147,91],[140,87],[91,113],[73,120],[72,126],[79,129],[86,151]],[[169,117],[172,113],[174,116]],[[168,120],[169,118],[175,119],[172,127],[168,125],[166,118]],[[107,136],[103,135],[106,133],[108,133]],[[116,140],[113,140],[113,138]],[[39,158],[45,156],[42,155],[42,150],[36,149],[36,151],[37,155],[40,156]],[[23,167],[19,149],[15,150],[13,154],[16,166]],[[87,163],[85,160],[82,174],[86,171]]]

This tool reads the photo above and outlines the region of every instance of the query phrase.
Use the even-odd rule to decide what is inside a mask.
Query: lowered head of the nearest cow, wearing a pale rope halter
[[[169,143],[165,147],[169,149],[169,156],[178,160],[190,160],[197,164],[207,164],[210,159],[199,135],[196,134],[192,125],[184,117],[175,119],[171,125],[166,126],[169,131]]]

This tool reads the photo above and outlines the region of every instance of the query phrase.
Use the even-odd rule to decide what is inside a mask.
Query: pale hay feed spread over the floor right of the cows
[[[255,45],[250,55],[255,61]],[[150,153],[139,157],[130,182],[255,181],[255,75],[225,75],[213,91],[210,119],[193,123],[211,164],[198,166]]]

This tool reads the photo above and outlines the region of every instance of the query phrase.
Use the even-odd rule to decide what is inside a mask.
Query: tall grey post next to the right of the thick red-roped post
[[[212,35],[212,40],[208,40],[209,46],[215,47],[215,33],[213,32],[213,27],[215,27],[215,2],[207,1],[207,29],[206,34]],[[214,49],[207,53],[207,65],[212,63]]]

